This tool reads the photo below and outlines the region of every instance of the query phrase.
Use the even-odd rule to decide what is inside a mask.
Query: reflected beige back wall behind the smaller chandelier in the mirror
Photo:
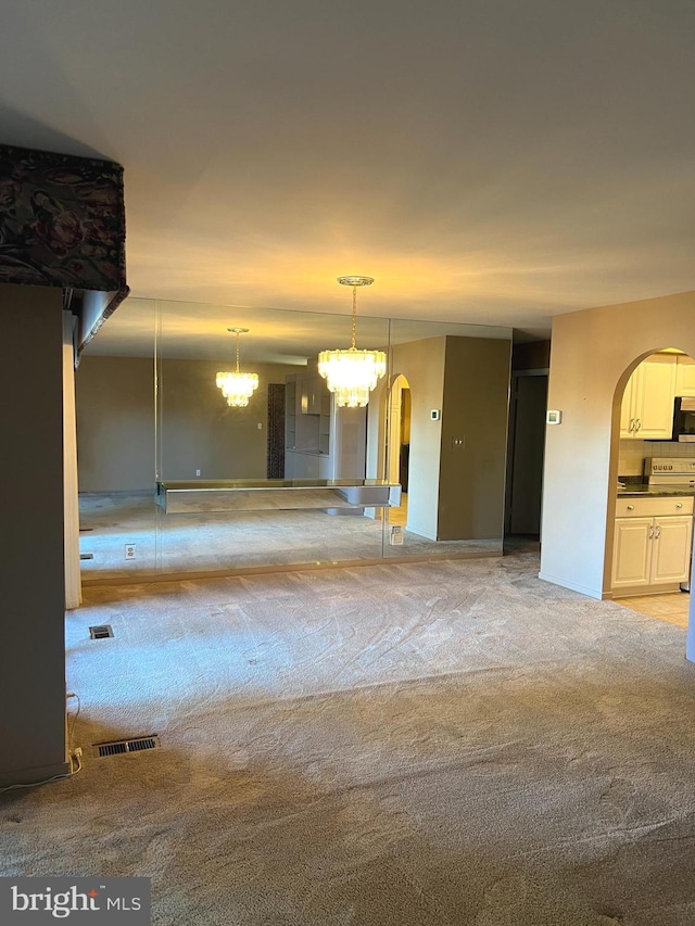
[[[230,408],[215,385],[220,360],[162,360],[157,430],[162,479],[266,475],[268,383],[295,366],[253,364],[258,389]],[[77,370],[81,492],[151,490],[155,473],[153,361],[84,357]],[[261,424],[261,429],[258,429]]]

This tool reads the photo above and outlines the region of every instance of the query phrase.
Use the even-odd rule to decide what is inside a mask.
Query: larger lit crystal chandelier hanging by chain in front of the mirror
[[[321,351],[318,372],[329,391],[334,393],[338,407],[357,408],[369,402],[369,393],[387,371],[383,351],[358,351],[355,347],[357,325],[357,287],[369,287],[374,277],[338,277],[338,282],[352,287],[352,339],[346,351]]]

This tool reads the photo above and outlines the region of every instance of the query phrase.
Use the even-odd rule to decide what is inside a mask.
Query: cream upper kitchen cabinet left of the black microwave
[[[634,370],[622,396],[621,437],[670,440],[673,432],[675,371],[672,354],[653,354]]]

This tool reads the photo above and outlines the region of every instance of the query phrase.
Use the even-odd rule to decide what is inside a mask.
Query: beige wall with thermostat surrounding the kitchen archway
[[[609,586],[619,415],[624,384],[648,354],[695,356],[695,292],[553,319],[541,578],[595,598]]]

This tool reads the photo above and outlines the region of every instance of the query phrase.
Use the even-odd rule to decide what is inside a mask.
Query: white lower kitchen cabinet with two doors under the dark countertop
[[[614,591],[677,585],[690,576],[693,497],[620,498],[612,548]]]

